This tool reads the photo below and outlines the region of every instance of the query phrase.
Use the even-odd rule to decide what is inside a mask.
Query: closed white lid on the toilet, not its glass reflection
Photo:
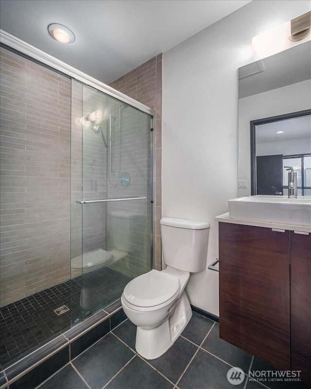
[[[179,289],[178,277],[151,270],[130,281],[124,288],[123,296],[133,305],[152,307],[173,300]]]

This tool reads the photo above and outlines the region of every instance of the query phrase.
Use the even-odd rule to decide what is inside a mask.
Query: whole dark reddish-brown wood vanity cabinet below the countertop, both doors
[[[308,382],[311,234],[220,222],[219,269],[220,337]]]

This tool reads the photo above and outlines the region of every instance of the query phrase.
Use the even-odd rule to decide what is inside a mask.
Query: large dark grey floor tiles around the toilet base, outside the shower
[[[77,356],[38,389],[307,389],[303,383],[251,381],[251,369],[272,370],[219,338],[218,323],[197,313],[161,357],[135,352],[136,327],[128,319]],[[232,385],[228,370],[239,367],[243,381]],[[275,370],[275,369],[274,369]]]

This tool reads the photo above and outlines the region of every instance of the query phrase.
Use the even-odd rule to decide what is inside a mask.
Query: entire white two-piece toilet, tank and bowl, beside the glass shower
[[[160,224],[167,268],[130,281],[121,297],[126,316],[137,325],[136,351],[146,359],[164,354],[188,324],[192,311],[185,286],[207,259],[209,223],[164,217]]]

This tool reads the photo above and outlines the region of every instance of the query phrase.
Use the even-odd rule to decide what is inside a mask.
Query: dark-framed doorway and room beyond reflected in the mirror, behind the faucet
[[[311,111],[251,121],[252,195],[288,195],[288,171],[297,195],[311,195]]]

